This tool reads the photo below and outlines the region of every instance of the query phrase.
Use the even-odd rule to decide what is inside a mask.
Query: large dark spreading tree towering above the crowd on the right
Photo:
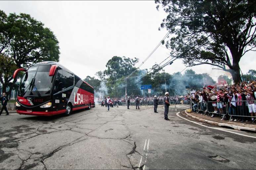
[[[155,0],[155,3],[157,10],[161,4],[168,14],[161,27],[175,35],[165,43],[167,48],[177,51],[176,58],[182,58],[187,66],[216,66],[230,72],[235,83],[241,81],[239,61],[256,47],[254,1]]]

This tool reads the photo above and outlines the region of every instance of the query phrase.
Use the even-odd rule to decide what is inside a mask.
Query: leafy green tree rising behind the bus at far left
[[[7,60],[15,63],[16,68],[28,68],[36,62],[59,61],[59,42],[49,28],[30,15],[11,13],[7,16],[0,10],[0,54],[9,57]],[[6,69],[13,72],[12,67]],[[12,77],[1,77],[3,87],[16,81]],[[8,95],[11,90],[3,88],[3,92]]]

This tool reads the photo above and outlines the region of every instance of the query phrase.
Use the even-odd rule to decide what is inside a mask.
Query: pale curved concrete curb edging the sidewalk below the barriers
[[[205,122],[205,123],[213,124],[213,125],[216,125],[216,126],[228,126],[228,127],[231,127],[231,128],[233,128],[235,130],[248,130],[248,131],[256,132],[256,128],[238,126],[238,125],[227,124],[227,123],[219,123],[219,122],[216,122],[216,121],[211,121],[211,120],[206,120],[206,119],[198,118],[196,116],[193,116],[193,115],[189,114],[187,112],[187,110],[185,110],[185,113],[186,113],[186,115],[188,115],[189,117],[191,117],[193,119],[196,119],[198,121],[202,121],[202,122]]]

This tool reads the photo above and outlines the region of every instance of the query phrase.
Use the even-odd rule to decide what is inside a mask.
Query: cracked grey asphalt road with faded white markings
[[[161,108],[130,108],[97,106],[69,117],[2,114],[0,169],[256,169],[254,133],[201,126],[174,111],[166,121]]]

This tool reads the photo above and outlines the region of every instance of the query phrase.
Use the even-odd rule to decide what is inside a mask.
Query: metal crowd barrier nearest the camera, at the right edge
[[[227,103],[227,113],[232,118],[238,119],[239,117],[256,118],[250,115],[256,111],[256,100],[242,100],[242,101],[230,101]]]

